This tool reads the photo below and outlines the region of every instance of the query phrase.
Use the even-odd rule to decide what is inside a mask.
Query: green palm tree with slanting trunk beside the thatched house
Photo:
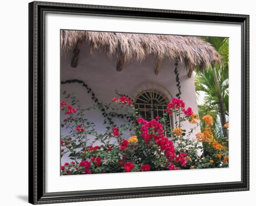
[[[222,65],[211,65],[208,70],[195,75],[195,89],[205,93],[205,104],[199,106],[200,112],[210,113],[214,119],[220,116],[224,137],[228,137],[226,115],[229,114],[229,40],[222,37],[203,37],[222,56]],[[221,86],[220,86],[221,85]]]

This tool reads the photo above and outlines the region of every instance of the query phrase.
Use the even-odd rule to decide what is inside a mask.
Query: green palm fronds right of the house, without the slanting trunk
[[[215,47],[222,56],[222,64],[216,65],[216,74],[220,84],[224,112],[226,116],[229,116],[229,39],[222,37],[203,37],[202,39]],[[221,136],[219,100],[211,66],[203,71],[195,69],[195,91],[197,95],[200,93],[205,95],[204,103],[198,106],[199,116],[211,115],[215,123],[213,133],[216,137]]]

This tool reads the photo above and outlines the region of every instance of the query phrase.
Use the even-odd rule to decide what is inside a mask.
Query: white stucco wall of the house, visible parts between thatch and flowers
[[[135,89],[138,88],[141,83],[155,82],[167,88],[168,91],[175,97],[178,93],[175,81],[175,61],[163,60],[161,69],[158,75],[155,75],[156,60],[152,56],[148,56],[141,62],[128,62],[121,72],[116,71],[116,58],[109,58],[104,52],[95,52],[91,55],[89,47],[83,43],[78,65],[76,68],[71,67],[72,51],[61,57],[61,80],[79,79],[83,80],[95,93],[95,96],[100,102],[110,103],[115,95],[115,89],[118,89],[120,93],[128,94],[130,97],[134,96]],[[190,106],[195,113],[198,113],[194,78],[188,77],[187,71],[183,63],[179,63],[179,77],[181,82],[181,99],[186,103],[186,108]],[[91,100],[91,95],[87,93],[85,87],[81,84],[71,83],[61,85],[61,89],[67,93],[75,93],[78,100],[80,100],[81,107],[87,107],[94,104]],[[63,98],[62,98],[63,100]],[[67,100],[67,99],[65,99]],[[64,115],[65,116],[65,115]],[[61,120],[65,117],[61,115]],[[101,111],[92,110],[86,113],[86,118],[96,124],[97,130],[101,133],[105,131],[103,126],[103,116]],[[118,119],[115,121],[123,122],[124,120]],[[183,123],[187,131],[195,125],[189,122]],[[194,132],[200,132],[200,128],[197,128]],[[65,129],[61,129],[61,133],[65,134]],[[129,134],[126,134],[123,138],[128,138]],[[63,162],[65,158],[63,158]]]

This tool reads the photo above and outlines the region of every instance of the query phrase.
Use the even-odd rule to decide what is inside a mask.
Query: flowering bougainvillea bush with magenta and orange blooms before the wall
[[[113,98],[109,104],[97,102],[88,108],[81,108],[74,95],[65,95],[71,104],[61,101],[65,116],[61,126],[68,131],[61,136],[61,158],[68,156],[70,161],[61,165],[61,175],[228,166],[225,140],[216,140],[211,132],[212,117],[206,114],[200,120],[180,99],[173,98],[162,117],[145,120],[124,95]],[[86,111],[92,109],[100,109],[105,117],[105,133],[98,133],[95,124],[86,119]],[[177,117],[173,129],[166,121],[168,115]],[[113,117],[126,118],[128,123],[117,126]],[[195,126],[186,131],[182,129],[185,121]],[[199,124],[203,130],[194,133]],[[130,138],[124,139],[127,132]]]

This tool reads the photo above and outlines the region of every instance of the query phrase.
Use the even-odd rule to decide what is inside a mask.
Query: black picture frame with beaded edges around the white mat
[[[29,3],[29,202],[63,203],[249,190],[249,15],[203,13],[131,7],[108,7],[56,2]],[[73,192],[45,192],[45,13],[89,14],[158,20],[238,24],[242,27],[242,176],[239,182],[153,186]]]

